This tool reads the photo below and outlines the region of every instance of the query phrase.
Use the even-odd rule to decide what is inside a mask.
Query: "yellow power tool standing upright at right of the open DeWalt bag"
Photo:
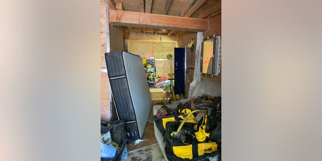
[[[205,118],[205,124],[200,126],[199,124],[195,125],[194,132],[198,142],[206,142],[209,139],[210,135],[210,117],[211,117],[211,108],[208,108],[208,112]]]

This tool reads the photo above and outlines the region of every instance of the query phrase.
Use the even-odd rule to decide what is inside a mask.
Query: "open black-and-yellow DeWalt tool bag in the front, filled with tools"
[[[180,124],[178,122],[167,122],[164,138],[166,141],[165,151],[169,160],[209,160],[207,157],[214,155],[218,150],[216,142],[197,141],[196,125],[197,122],[188,122],[194,118],[194,113],[201,112],[195,110],[189,113]],[[203,113],[201,113],[204,116]],[[203,117],[205,123],[205,117]],[[198,126],[199,127],[199,126]]]

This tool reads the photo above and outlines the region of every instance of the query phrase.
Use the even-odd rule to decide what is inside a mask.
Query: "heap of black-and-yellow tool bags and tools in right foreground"
[[[203,95],[163,105],[153,116],[169,160],[221,160],[221,97]]]

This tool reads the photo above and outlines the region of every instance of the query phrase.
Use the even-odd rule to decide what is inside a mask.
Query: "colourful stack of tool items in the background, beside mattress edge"
[[[156,83],[156,80],[155,80],[156,70],[155,70],[154,57],[145,57],[145,58],[142,58],[142,61],[143,61],[147,83],[150,87],[154,87]]]

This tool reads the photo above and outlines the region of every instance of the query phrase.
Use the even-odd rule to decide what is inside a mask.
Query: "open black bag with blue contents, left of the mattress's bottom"
[[[109,124],[111,124],[111,126],[108,126]],[[112,141],[117,143],[119,146],[116,149],[114,158],[101,158],[101,161],[120,160],[127,141],[124,120],[101,122],[101,133],[105,134],[108,131],[111,133]]]

